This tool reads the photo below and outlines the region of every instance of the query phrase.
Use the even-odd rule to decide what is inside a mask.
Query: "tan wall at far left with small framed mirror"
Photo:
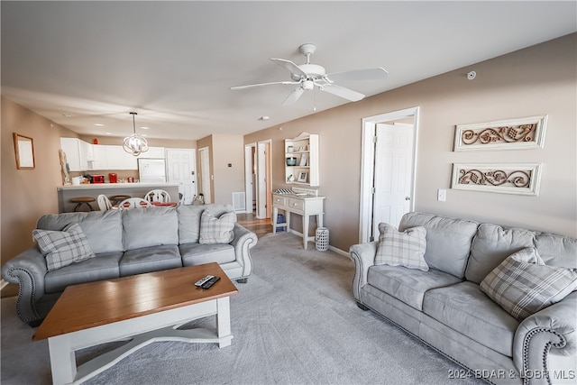
[[[29,136],[35,168],[17,170],[13,133]],[[68,129],[2,97],[1,259],[32,246],[32,230],[41,215],[58,214],[56,187],[60,177],[60,135],[78,137]]]

